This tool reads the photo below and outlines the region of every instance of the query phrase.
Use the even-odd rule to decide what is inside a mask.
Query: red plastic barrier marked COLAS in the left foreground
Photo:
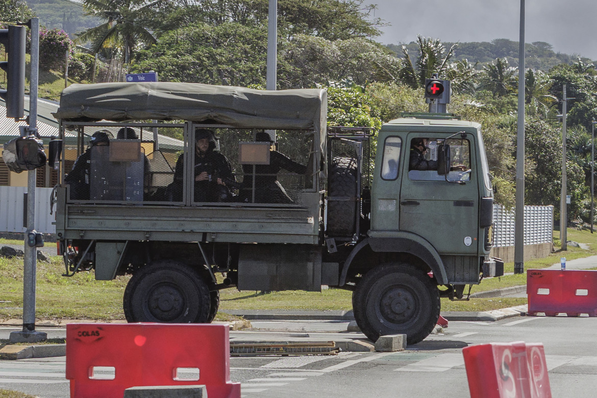
[[[101,378],[105,368],[113,370],[113,380]],[[69,324],[66,378],[70,397],[76,398],[122,397],[129,387],[189,384],[204,384],[210,398],[241,397],[241,384],[230,382],[225,325]]]

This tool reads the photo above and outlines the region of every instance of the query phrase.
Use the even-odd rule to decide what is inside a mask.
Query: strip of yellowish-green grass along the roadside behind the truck
[[[586,243],[589,249],[568,245],[567,251],[556,251],[546,258],[526,261],[526,269],[540,269],[558,263],[560,257],[568,260],[597,255],[597,234],[586,230],[568,229],[568,239]],[[559,243],[557,240],[556,243]],[[0,239],[0,246],[6,240]],[[22,242],[19,242],[22,243]],[[95,280],[93,273],[82,272],[73,277],[62,277],[64,266],[60,257],[52,257],[53,263],[38,262],[36,285],[36,317],[67,322],[69,319],[122,320],[122,296],[128,277],[115,280]],[[514,264],[504,264],[506,272],[513,271]],[[0,258],[0,319],[20,319],[23,316],[23,259]],[[472,292],[480,292],[509,286],[524,285],[526,274],[489,278],[475,285]],[[466,289],[465,292],[467,292]],[[488,311],[526,304],[526,298],[474,298],[469,301],[442,299],[444,311]],[[226,289],[220,292],[221,310],[350,310],[352,293],[342,289],[319,292],[283,291],[261,294],[260,292]],[[219,313],[216,320],[233,320],[232,316]]]

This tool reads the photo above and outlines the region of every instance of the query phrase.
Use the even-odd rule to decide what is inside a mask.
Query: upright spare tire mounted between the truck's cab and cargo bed
[[[356,198],[356,159],[332,159],[328,177],[328,197]],[[328,236],[350,237],[355,232],[356,200],[328,200]]]

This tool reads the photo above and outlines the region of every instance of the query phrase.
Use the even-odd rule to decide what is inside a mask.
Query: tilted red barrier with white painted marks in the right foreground
[[[552,397],[543,344],[479,344],[462,353],[470,398]]]

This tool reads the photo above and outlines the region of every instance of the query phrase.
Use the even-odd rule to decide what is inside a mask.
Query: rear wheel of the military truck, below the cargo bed
[[[210,291],[199,273],[177,261],[157,261],[141,267],[124,291],[128,322],[206,323]]]

